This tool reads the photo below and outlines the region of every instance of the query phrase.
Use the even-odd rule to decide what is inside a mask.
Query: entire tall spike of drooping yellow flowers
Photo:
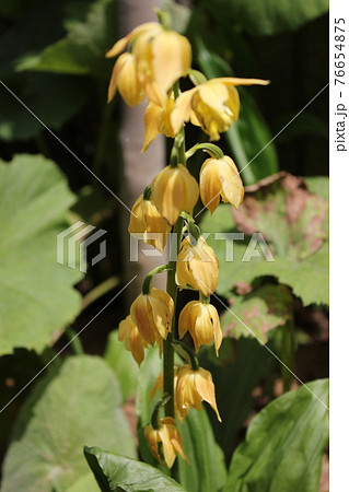
[[[160,15],[160,19],[164,17]],[[212,343],[218,356],[222,343],[219,315],[210,304],[210,296],[218,285],[219,263],[195,223],[194,208],[200,197],[210,213],[221,199],[237,209],[244,197],[243,183],[233,160],[209,142],[186,151],[184,127],[191,122],[201,127],[210,141],[219,140],[220,133],[239,118],[236,86],[265,85],[268,81],[207,80],[190,69],[189,42],[171,31],[166,22],[141,24],[119,39],[106,56],[118,57],[108,101],[117,92],[130,106],[148,97],[142,151],[159,133],[174,139],[171,163],[137,199],[128,231],[135,236],[140,235],[161,253],[170,232],[175,232],[178,236],[175,241],[177,257],[149,272],[142,292],[130,307],[130,315],[119,325],[119,340],[139,365],[149,345],[158,343],[160,355],[163,354],[164,372],[152,390],[154,395],[160,389],[163,396],[144,434],[155,458],[161,461],[163,456],[171,468],[177,454],[187,460],[174,413],[184,421],[189,409],[200,410],[202,401],[207,401],[221,421],[212,376],[199,366],[197,358],[201,345]],[[190,79],[195,86],[181,92],[178,80],[194,72],[197,77]],[[198,150],[208,152],[210,157],[202,163],[197,181],[187,167],[187,160]],[[167,271],[167,291],[151,286],[153,276],[161,271]],[[184,289],[197,291],[199,298],[187,303],[176,316],[177,292]],[[185,359],[179,367],[174,367],[173,362],[168,365],[168,361],[173,361],[174,347]],[[165,417],[160,418],[163,407]]]

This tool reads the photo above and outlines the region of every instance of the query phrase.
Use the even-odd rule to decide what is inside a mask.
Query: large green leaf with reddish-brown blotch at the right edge
[[[252,187],[240,211],[220,206],[212,216],[205,214],[200,226],[210,233],[207,242],[221,266],[217,292],[229,297],[240,282],[271,276],[291,286],[304,305],[328,304],[327,200],[306,190],[302,180],[289,187],[279,176]],[[313,186],[315,190],[315,181]],[[319,186],[326,188],[325,181]],[[233,215],[244,241],[232,235],[239,232]],[[216,236],[218,232],[224,236]],[[260,237],[251,238],[254,232],[263,234],[269,250],[263,249]]]

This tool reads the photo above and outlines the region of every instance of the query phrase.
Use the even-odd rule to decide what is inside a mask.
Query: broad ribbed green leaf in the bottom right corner
[[[328,406],[328,379],[307,384]],[[225,492],[314,492],[328,441],[328,410],[304,386],[269,403],[233,455]]]

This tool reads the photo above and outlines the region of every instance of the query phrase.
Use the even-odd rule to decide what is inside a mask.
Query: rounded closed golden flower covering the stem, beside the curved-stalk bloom
[[[193,213],[199,198],[199,185],[183,164],[162,169],[154,177],[151,190],[155,206],[171,225],[176,223],[182,210]]]

